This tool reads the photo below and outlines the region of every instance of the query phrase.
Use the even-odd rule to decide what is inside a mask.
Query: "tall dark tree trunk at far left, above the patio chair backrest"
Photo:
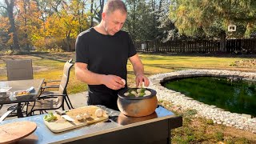
[[[5,0],[6,6],[7,6],[7,13],[8,13],[8,18],[10,21],[10,32],[12,33],[12,38],[14,42],[14,50],[19,50],[19,45],[18,45],[18,34],[17,30],[15,27],[15,22],[14,22],[14,0],[10,0],[10,3],[8,0]]]

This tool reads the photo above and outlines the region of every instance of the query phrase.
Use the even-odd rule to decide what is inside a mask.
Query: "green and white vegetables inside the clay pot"
[[[126,97],[146,97],[150,94],[150,90],[146,90],[146,88],[128,89],[126,93],[124,93]]]

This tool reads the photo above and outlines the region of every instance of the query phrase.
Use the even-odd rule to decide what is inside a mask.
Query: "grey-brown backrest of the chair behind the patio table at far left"
[[[33,79],[31,59],[6,60],[7,80]]]

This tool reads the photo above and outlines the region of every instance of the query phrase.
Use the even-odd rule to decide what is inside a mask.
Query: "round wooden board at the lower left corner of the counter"
[[[36,130],[34,122],[11,122],[0,126],[0,143],[18,142]]]

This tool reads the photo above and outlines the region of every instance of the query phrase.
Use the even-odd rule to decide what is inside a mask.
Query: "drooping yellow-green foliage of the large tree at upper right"
[[[234,24],[239,27],[235,37],[242,37],[255,28],[255,6],[255,1],[246,0],[172,0],[170,19],[181,34],[192,36],[203,32],[218,37],[227,33],[228,25]]]

